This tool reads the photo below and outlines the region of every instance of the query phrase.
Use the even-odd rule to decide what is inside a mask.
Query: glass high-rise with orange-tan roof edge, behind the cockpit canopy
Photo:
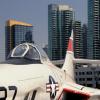
[[[16,20],[8,20],[5,27],[5,58],[22,42],[32,42],[33,26]]]

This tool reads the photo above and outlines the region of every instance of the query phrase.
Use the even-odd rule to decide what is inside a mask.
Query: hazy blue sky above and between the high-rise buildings
[[[32,24],[35,42],[47,44],[48,4],[51,3],[70,5],[76,19],[87,22],[87,0],[0,0],[0,48],[4,49],[4,26],[8,19]]]

